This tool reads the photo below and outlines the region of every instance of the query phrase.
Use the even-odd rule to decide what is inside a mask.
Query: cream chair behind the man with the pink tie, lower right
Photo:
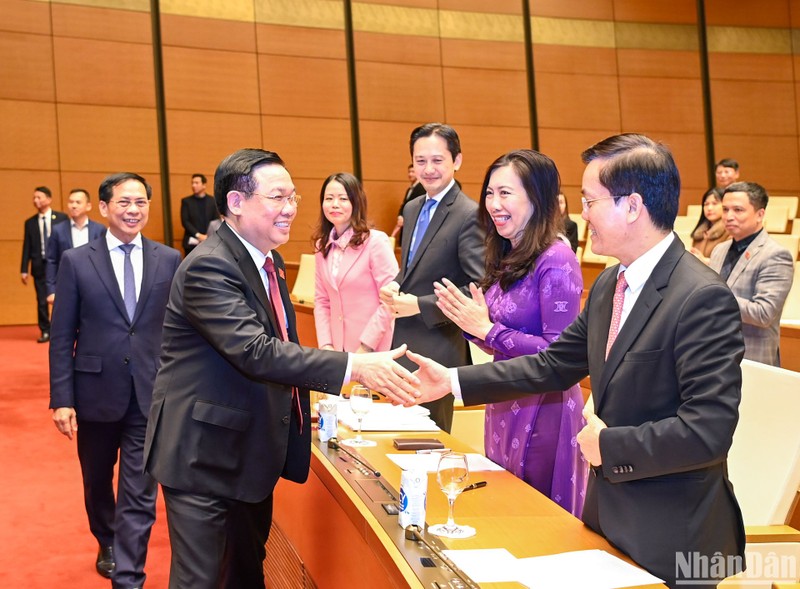
[[[763,578],[776,569],[787,572],[767,569],[767,562],[800,562],[800,532],[787,525],[800,488],[798,391],[800,373],[742,361],[742,402],[728,453],[728,475],[742,509],[752,566],[720,587],[769,589],[776,580],[800,581],[799,567],[789,571],[790,577]]]

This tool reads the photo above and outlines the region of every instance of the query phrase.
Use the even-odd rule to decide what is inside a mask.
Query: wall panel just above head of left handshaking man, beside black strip
[[[213,172],[237,149],[262,144],[258,115],[168,110],[167,134],[171,174]],[[206,176],[211,182],[213,173]]]

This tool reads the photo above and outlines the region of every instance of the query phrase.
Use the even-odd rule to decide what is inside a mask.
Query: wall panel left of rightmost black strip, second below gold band
[[[703,96],[699,80],[620,77],[624,131],[703,132]]]

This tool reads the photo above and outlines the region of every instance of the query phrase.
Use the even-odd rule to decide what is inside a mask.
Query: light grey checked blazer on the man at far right
[[[719,272],[731,248],[731,240],[711,252],[711,267]],[[780,366],[780,323],[789,295],[794,263],[789,250],[770,239],[764,229],[753,240],[728,276],[728,286],[742,313],[744,357]]]

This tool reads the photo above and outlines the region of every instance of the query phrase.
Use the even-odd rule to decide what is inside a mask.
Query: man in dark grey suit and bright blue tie
[[[478,225],[478,204],[461,192],[455,172],[461,167],[461,142],[449,125],[428,123],[411,133],[411,158],[425,198],[403,208],[400,273],[381,289],[381,300],[397,320],[392,346],[409,348],[445,366],[470,363],[461,329],[436,306],[433,283],[448,278],[457,287],[483,276],[484,234]],[[408,368],[407,359],[399,362]],[[453,396],[425,405],[431,418],[449,432]]]

